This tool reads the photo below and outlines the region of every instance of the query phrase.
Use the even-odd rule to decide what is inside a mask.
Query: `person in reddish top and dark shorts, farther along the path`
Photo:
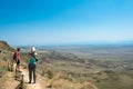
[[[16,61],[16,63],[17,63],[17,66],[16,66],[16,70],[18,70],[18,71],[20,71],[20,48],[17,48],[17,50],[16,50],[16,52],[14,52],[14,55],[13,55],[13,59],[14,59],[14,61]],[[21,72],[21,71],[20,71]]]

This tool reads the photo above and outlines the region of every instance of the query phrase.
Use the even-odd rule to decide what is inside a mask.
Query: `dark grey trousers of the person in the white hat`
[[[29,80],[32,81],[32,73],[33,73],[33,81],[35,82],[37,76],[35,76],[35,65],[29,65]]]

